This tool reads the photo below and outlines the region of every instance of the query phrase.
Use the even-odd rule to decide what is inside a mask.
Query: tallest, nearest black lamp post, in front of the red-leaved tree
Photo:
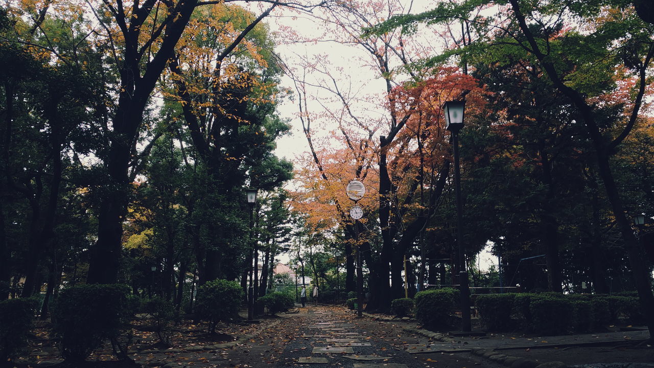
[[[464,109],[466,101],[447,101],[445,110],[445,129],[452,134],[452,149],[454,153],[454,180],[456,193],[456,243],[458,245],[459,288],[461,295],[461,331],[469,332],[470,324],[470,289],[468,287],[468,271],[466,268],[466,251],[463,244],[463,215],[461,204],[461,177],[458,163],[458,132],[463,128]]]

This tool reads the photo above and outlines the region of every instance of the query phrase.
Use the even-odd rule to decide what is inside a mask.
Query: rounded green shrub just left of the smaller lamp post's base
[[[196,314],[209,323],[209,333],[216,333],[216,325],[239,312],[243,289],[235,281],[213,280],[198,287]]]

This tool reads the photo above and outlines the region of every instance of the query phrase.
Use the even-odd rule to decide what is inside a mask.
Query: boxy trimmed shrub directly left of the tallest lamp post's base
[[[415,318],[427,328],[449,327],[457,295],[458,291],[450,287],[416,293]]]

